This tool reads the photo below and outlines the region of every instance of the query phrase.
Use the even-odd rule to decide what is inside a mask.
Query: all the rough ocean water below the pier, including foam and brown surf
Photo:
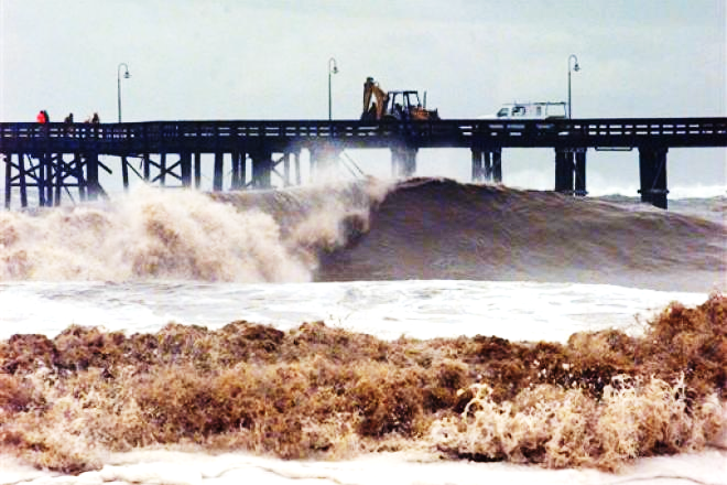
[[[718,353],[727,342],[724,313],[709,310],[727,289],[725,200],[672,207],[415,179],[213,196],[140,187],[112,204],[0,213],[0,483],[727,483],[718,374],[699,380],[676,357],[654,357],[673,367],[651,368],[661,384],[597,385],[612,390],[611,407],[606,395],[592,402],[585,387],[568,390],[575,380],[563,384],[568,373],[592,382],[593,369],[638,376],[623,356],[661,352],[642,342],[666,338],[654,322],[692,322],[679,323],[681,341],[670,333],[677,340],[664,356]],[[672,302],[676,310],[664,311]],[[670,320],[680,305],[704,310]],[[694,323],[704,319],[712,327]],[[138,345],[149,338],[158,344],[144,354]],[[245,352],[226,354],[240,338]],[[713,374],[724,358],[715,355],[702,364]],[[443,375],[437,366],[455,369],[458,384],[436,405],[441,389],[402,411],[366,387],[410,402],[400,390]],[[554,369],[565,374],[543,374]],[[326,373],[354,373],[355,386],[321,411],[328,385],[315,379]],[[218,388],[252,386],[235,380],[241,375],[263,386],[250,394],[265,392],[262,411],[227,410],[237,413],[228,423],[217,408],[237,394],[199,405]],[[550,387],[529,408],[535,390],[516,381],[533,376]],[[289,389],[296,379],[314,379],[317,395]],[[493,398],[477,394],[484,387],[463,394],[473,382],[489,382]],[[697,385],[698,398],[679,397]],[[294,402],[280,403],[275,388]],[[459,436],[448,427],[470,399]],[[167,402],[177,400],[181,408]],[[647,424],[633,424],[641,417]],[[584,423],[600,427],[597,450],[578,448]],[[528,431],[553,429],[572,434]],[[492,441],[498,430],[517,444]]]

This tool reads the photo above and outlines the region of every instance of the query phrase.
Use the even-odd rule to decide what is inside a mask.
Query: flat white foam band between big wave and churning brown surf
[[[220,327],[235,320],[281,330],[324,321],[381,338],[497,335],[565,342],[574,332],[636,333],[671,301],[707,294],[606,284],[412,280],[335,283],[22,282],[0,284],[0,338],[54,336],[70,324],[155,332],[174,321]]]

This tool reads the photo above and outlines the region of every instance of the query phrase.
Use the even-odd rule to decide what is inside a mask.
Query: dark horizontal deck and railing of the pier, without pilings
[[[346,148],[388,147],[405,141],[416,148],[468,148],[476,143],[514,147],[727,146],[727,118],[604,118],[553,120],[242,120],[145,121],[131,123],[0,123],[0,152],[32,148],[80,148],[94,142],[109,153],[160,146],[214,151],[230,143],[335,141]],[[42,147],[42,148],[45,148]],[[171,147],[170,147],[171,148]]]

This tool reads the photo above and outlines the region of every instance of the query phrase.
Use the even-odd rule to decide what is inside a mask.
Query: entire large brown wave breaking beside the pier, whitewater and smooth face
[[[727,228],[550,192],[414,179],[0,213],[0,280],[400,279],[725,289]],[[679,287],[679,288],[677,288]]]

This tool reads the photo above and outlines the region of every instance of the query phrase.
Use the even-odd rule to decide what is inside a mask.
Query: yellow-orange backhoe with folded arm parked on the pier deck
[[[372,100],[376,98],[376,100]],[[426,109],[426,93],[424,105],[415,90],[384,91],[373,77],[367,77],[364,84],[362,121],[394,119],[399,121],[440,119],[436,109]]]

